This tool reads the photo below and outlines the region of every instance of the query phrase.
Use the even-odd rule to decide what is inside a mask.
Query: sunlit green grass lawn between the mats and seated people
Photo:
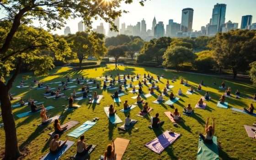
[[[204,132],[205,120],[207,117],[216,117],[215,123],[215,135],[218,137],[218,143],[221,148],[219,148],[219,157],[222,160],[256,160],[256,140],[251,139],[247,136],[247,133],[244,128],[244,124],[252,125],[252,123],[256,122],[256,117],[246,115],[243,113],[233,113],[230,108],[243,108],[248,107],[252,100],[249,100],[247,97],[255,94],[255,87],[251,85],[249,82],[243,81],[232,81],[232,80],[223,80],[221,78],[213,77],[213,76],[205,76],[205,75],[195,75],[195,74],[185,74],[185,73],[176,73],[170,72],[165,69],[156,69],[156,68],[146,68],[146,67],[124,67],[118,66],[118,70],[114,69],[114,65],[108,65],[107,67],[101,67],[96,69],[85,69],[80,71],[73,71],[69,67],[62,67],[53,69],[49,76],[46,77],[37,77],[37,80],[40,80],[44,83],[48,82],[57,82],[61,80],[66,80],[65,76],[69,75],[72,78],[81,77],[83,75],[87,78],[96,78],[101,75],[116,75],[120,74],[141,74],[144,73],[153,75],[156,78],[156,75],[164,75],[165,78],[161,79],[159,83],[160,89],[164,88],[166,81],[169,80],[171,83],[171,79],[176,76],[177,80],[175,83],[171,83],[170,85],[174,85],[172,91],[174,94],[178,92],[178,89],[181,88],[183,93],[186,93],[188,87],[180,84],[181,78],[188,80],[190,85],[197,87],[198,83],[201,80],[204,81],[206,86],[203,86],[203,91],[198,91],[193,95],[180,96],[180,100],[177,101],[174,106],[178,108],[180,113],[182,113],[182,107],[186,107],[188,103],[191,103],[191,106],[194,107],[201,96],[205,94],[205,91],[209,91],[210,96],[212,97],[211,101],[207,102],[207,108],[205,110],[195,109],[195,114],[191,117],[183,117],[183,123],[179,123],[178,127],[174,127],[168,117],[165,116],[165,111],[173,112],[174,109],[171,107],[162,104],[152,103],[155,101],[156,96],[150,96],[146,99],[149,102],[149,106],[154,110],[150,112],[148,117],[142,118],[137,117],[141,106],[135,107],[130,111],[130,115],[132,119],[136,119],[139,121],[134,128],[128,133],[119,133],[117,127],[123,125],[123,123],[119,123],[117,125],[113,125],[109,123],[107,115],[104,112],[103,107],[106,107],[108,103],[113,104],[113,100],[110,97],[114,93],[114,90],[104,90],[101,89],[93,90],[97,91],[99,95],[103,95],[103,99],[99,105],[91,105],[88,104],[88,100],[77,101],[82,107],[78,108],[75,111],[64,112],[64,108],[62,105],[67,105],[68,100],[64,98],[60,98],[57,100],[54,99],[45,99],[43,98],[44,89],[36,90],[29,88],[16,88],[16,85],[19,85],[21,81],[22,75],[29,75],[30,78],[25,80],[25,82],[30,83],[34,79],[32,73],[24,73],[20,74],[16,79],[11,93],[15,93],[15,96],[22,96],[24,100],[27,100],[29,97],[35,99],[36,101],[44,101],[45,106],[53,106],[55,107],[52,110],[48,111],[48,114],[61,115],[61,123],[67,123],[70,120],[79,121],[80,124],[84,123],[87,120],[91,120],[94,117],[99,117],[100,120],[98,123],[85,132],[85,138],[88,139],[88,144],[96,144],[96,149],[91,154],[91,160],[97,160],[100,155],[102,155],[107,147],[107,144],[111,142],[111,139],[115,139],[117,137],[130,139],[130,143],[128,148],[123,155],[123,160],[195,160],[197,157],[197,147],[198,147],[198,133]],[[217,85],[213,85],[213,81],[216,81]],[[224,93],[224,90],[219,90],[219,85],[222,81],[225,81],[227,86],[230,86],[232,89],[233,97],[227,98],[226,101],[229,103],[228,109],[223,109],[216,107],[217,101],[219,97]],[[74,82],[75,83],[75,82]],[[73,84],[74,84],[73,83]],[[70,84],[70,85],[73,85]],[[128,81],[129,84],[129,81]],[[133,83],[134,85],[138,84],[138,81]],[[75,84],[74,84],[75,85]],[[101,83],[102,85],[102,83]],[[52,84],[51,87],[58,87],[58,84]],[[80,86],[75,88],[75,90],[79,91]],[[234,93],[235,90],[239,89],[241,92],[241,98],[235,99]],[[130,91],[131,89],[128,89]],[[132,99],[133,93],[128,92],[128,95],[122,96],[122,102],[116,105],[117,115],[123,120],[125,119],[125,114],[120,112],[119,110],[123,108],[123,102],[128,100],[129,104],[134,103],[136,100]],[[143,87],[144,92],[149,92],[148,87]],[[64,91],[66,96],[69,96],[73,90]],[[165,97],[167,99],[167,97]],[[16,101],[12,101],[12,104],[16,103]],[[254,105],[255,102],[253,102]],[[17,107],[13,109],[13,114],[19,114],[21,112],[27,112],[30,108],[28,107]],[[154,116],[155,113],[160,113],[160,120],[165,121],[161,130],[152,130],[148,128],[150,124],[150,116]],[[27,147],[29,149],[29,154],[25,159],[27,160],[38,160],[43,157],[48,152],[49,145],[49,136],[48,133],[53,131],[53,124],[50,124],[50,130],[44,131],[46,128],[39,128],[37,124],[41,123],[41,118],[39,113],[33,114],[29,117],[18,118],[15,117],[18,141],[21,147]],[[0,123],[2,120],[0,119]],[[212,123],[210,119],[210,124]],[[64,133],[60,139],[64,140],[65,136],[70,133],[72,130],[80,126],[80,124],[76,125],[74,128]],[[181,133],[181,137],[176,140],[174,144],[171,144],[168,148],[166,148],[160,155],[146,148],[144,144],[155,139],[158,135],[163,133],[165,130],[172,129],[176,133]],[[0,153],[4,151],[4,129],[0,128]],[[69,137],[69,140],[77,141],[77,139]],[[76,145],[73,145],[62,157],[61,160],[66,159],[67,157],[74,155],[76,152]]]

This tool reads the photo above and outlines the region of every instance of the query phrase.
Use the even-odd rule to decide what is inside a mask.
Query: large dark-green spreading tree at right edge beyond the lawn
[[[231,69],[234,79],[239,71],[245,73],[249,64],[256,61],[256,31],[253,30],[218,33],[209,46],[217,64]]]

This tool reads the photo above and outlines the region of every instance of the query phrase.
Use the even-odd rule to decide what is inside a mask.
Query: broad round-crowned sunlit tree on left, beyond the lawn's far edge
[[[71,44],[72,52],[77,54],[80,67],[83,59],[89,56],[103,56],[107,48],[104,45],[104,35],[96,32],[76,32],[74,35],[69,35],[67,41]]]

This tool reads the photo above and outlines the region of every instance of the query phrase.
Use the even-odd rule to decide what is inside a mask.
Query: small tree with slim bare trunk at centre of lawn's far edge
[[[110,46],[108,48],[107,55],[109,57],[113,57],[115,59],[116,69],[117,69],[117,60],[120,57],[125,56],[125,52],[128,50],[127,46],[120,45],[120,46]]]

